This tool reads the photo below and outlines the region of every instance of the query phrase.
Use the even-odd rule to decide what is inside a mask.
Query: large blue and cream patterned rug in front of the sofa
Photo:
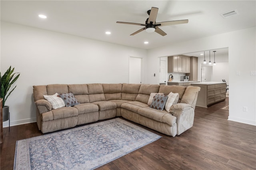
[[[161,136],[120,118],[16,142],[14,170],[89,170]]]

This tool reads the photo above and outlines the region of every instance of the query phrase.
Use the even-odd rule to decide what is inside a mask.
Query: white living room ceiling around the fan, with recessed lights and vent
[[[256,26],[256,1],[148,1],[148,0],[1,0],[1,20],[74,36],[152,49],[167,43],[183,42]],[[163,26],[167,33],[130,34],[143,26],[117,24],[116,21],[144,24],[147,10],[159,8],[156,22],[185,20],[188,24]],[[238,10],[238,16],[222,18],[220,14]],[[48,18],[38,18],[44,14]],[[106,35],[110,31],[112,34]],[[144,44],[148,41],[148,44]]]

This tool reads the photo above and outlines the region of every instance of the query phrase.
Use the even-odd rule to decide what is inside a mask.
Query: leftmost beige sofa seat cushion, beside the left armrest
[[[78,116],[78,110],[74,107],[62,107],[52,109],[53,120]]]

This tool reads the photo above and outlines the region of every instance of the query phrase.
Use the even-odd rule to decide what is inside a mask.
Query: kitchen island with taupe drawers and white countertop
[[[196,82],[191,86],[201,87],[198,92],[196,106],[208,107],[226,99],[226,82]]]

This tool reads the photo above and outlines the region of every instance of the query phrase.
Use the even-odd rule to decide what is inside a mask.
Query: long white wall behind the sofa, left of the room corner
[[[20,72],[6,101],[11,125],[36,121],[33,85],[128,83],[129,56],[147,62],[144,49],[1,22],[1,73]]]

